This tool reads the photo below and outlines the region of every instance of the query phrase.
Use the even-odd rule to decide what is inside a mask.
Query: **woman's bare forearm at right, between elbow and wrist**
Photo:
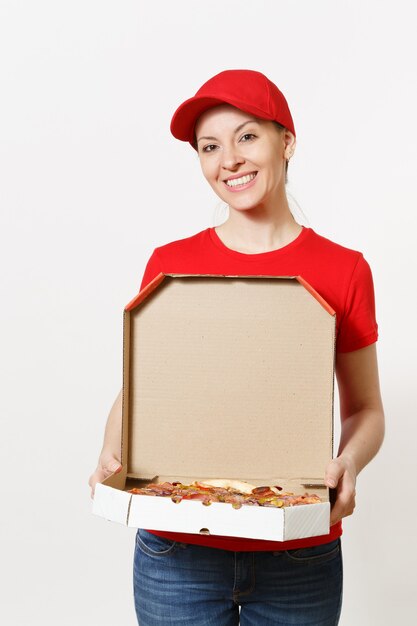
[[[381,407],[362,409],[342,417],[338,456],[353,463],[355,474],[374,458],[384,439],[384,412]]]

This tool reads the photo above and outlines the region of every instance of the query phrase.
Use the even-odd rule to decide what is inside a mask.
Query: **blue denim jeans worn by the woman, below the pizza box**
[[[299,550],[231,552],[143,529],[136,534],[139,626],[336,626],[342,578],[340,539]]]

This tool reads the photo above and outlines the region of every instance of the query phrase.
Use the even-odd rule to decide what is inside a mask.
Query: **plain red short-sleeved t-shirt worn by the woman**
[[[336,311],[336,352],[351,352],[378,338],[372,273],[361,252],[345,248],[303,227],[288,245],[257,254],[228,248],[215,228],[172,241],[154,249],[146,265],[141,289],[160,272],[176,274],[230,274],[302,276]],[[330,534],[291,541],[263,541],[151,530],[184,543],[223,550],[289,550],[333,541],[342,534],[341,522]]]

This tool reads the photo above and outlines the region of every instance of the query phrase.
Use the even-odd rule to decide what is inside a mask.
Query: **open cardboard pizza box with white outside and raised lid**
[[[122,471],[93,512],[131,527],[284,541],[329,533],[335,313],[301,277],[159,274],[124,312]],[[275,508],[152,497],[237,479],[319,495]]]

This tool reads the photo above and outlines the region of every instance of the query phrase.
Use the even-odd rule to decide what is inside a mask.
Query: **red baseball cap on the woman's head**
[[[210,78],[195,96],[185,100],[175,111],[171,133],[176,139],[188,141],[193,146],[197,119],[204,111],[223,103],[261,119],[279,122],[295,136],[284,94],[264,74],[254,70],[225,70]]]

